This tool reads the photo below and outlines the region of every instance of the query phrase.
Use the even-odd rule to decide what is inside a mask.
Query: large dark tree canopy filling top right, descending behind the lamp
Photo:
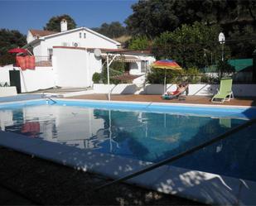
[[[234,57],[251,58],[256,46],[255,0],[141,0],[132,8],[125,22],[133,35],[154,38],[184,24],[202,22],[220,26]]]

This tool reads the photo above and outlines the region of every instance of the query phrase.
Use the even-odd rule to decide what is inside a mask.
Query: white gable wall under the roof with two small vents
[[[82,35],[81,38],[80,33]],[[86,38],[84,38],[84,33]],[[64,43],[67,44],[66,46],[73,46],[73,42],[77,42],[79,47],[86,48],[118,48],[118,46],[112,41],[108,41],[100,36],[94,35],[89,31],[80,30],[46,38],[44,41],[41,41],[41,49],[33,50],[34,55],[48,55],[47,50],[52,48],[52,46],[65,46]]]

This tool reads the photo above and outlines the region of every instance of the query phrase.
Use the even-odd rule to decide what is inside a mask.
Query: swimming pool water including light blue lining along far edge
[[[145,104],[13,103],[0,106],[0,128],[80,149],[157,162],[226,132],[254,109]],[[207,146],[171,165],[256,180],[255,127]]]

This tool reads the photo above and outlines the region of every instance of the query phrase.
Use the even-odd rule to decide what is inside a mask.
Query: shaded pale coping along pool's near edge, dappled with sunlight
[[[83,151],[80,148],[65,146],[56,142],[31,139],[12,132],[0,132],[0,134],[1,133],[5,134],[0,138],[0,145],[2,146],[12,148],[15,151],[25,153],[29,156],[36,156],[60,165],[70,166],[75,170],[89,171],[112,179],[118,179],[124,175],[128,175],[130,172],[129,170],[124,171],[124,174],[122,172],[118,173],[117,170],[120,166],[123,167],[123,170],[127,169],[128,165],[131,167],[134,166],[135,168],[133,168],[133,170],[140,170],[141,167],[150,164],[150,162],[147,161],[133,160],[127,157],[114,156],[97,151]],[[4,139],[6,139],[7,142],[3,142]],[[96,160],[101,160],[101,163],[98,162],[99,165],[97,165],[96,162],[95,164]],[[105,160],[105,162],[103,160]],[[118,161],[118,164],[116,161]],[[135,163],[135,165],[133,165],[133,163]],[[114,166],[111,166],[111,164],[114,164]],[[170,173],[171,176],[169,175]],[[203,176],[205,180],[199,182],[194,180],[198,175]],[[205,204],[220,205],[244,204],[244,201],[248,201],[248,199],[246,199],[248,198],[248,196],[246,196],[248,195],[246,194],[247,191],[251,193],[249,195],[253,196],[248,185],[256,187],[256,182],[251,180],[242,180],[204,171],[189,170],[172,165],[163,165],[156,170],[149,171],[147,174],[140,175],[126,182],[129,184],[138,184],[144,188],[154,189],[165,194],[174,194],[182,198],[194,199]],[[208,195],[210,195],[213,187],[218,191],[217,194],[219,196],[215,195],[215,197],[211,197],[209,200]],[[243,194],[244,190],[245,197],[243,198],[242,196],[241,198],[241,194]],[[221,198],[220,195],[222,195]],[[223,202],[224,200],[225,203]]]

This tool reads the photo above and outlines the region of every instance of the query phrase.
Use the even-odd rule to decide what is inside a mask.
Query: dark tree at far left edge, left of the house
[[[0,29],[0,65],[15,62],[15,55],[8,54],[7,50],[25,46],[26,36],[17,30]]]

